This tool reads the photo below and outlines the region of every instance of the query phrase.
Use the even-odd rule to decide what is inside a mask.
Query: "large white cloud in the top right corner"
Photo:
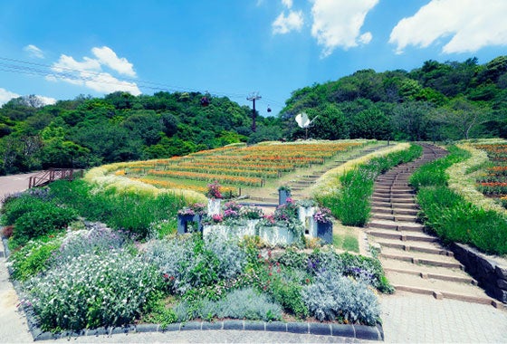
[[[397,53],[408,45],[426,48],[445,37],[451,39],[443,53],[473,53],[489,45],[507,45],[505,14],[505,0],[432,0],[398,22],[389,43],[397,45]]]

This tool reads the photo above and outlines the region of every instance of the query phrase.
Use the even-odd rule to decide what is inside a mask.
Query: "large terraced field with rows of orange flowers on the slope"
[[[227,192],[238,187],[261,187],[298,167],[324,164],[339,153],[359,148],[365,141],[270,143],[205,150],[186,157],[141,161],[116,172],[144,183],[166,188],[206,192],[217,181]]]

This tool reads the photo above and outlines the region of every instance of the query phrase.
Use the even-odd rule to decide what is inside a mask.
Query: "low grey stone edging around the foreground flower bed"
[[[10,255],[10,250],[7,245],[7,239],[2,238],[5,250],[5,258]],[[13,274],[12,267],[8,266],[7,270],[9,275]],[[14,290],[18,295],[21,295],[21,285],[17,281],[11,280]],[[272,332],[286,332],[296,334],[313,334],[320,336],[338,336],[353,339],[366,339],[366,340],[384,340],[384,330],[381,324],[376,326],[366,325],[345,325],[335,323],[321,323],[321,322],[264,322],[264,321],[250,321],[250,320],[221,320],[215,322],[208,321],[188,321],[169,324],[166,327],[160,324],[139,324],[129,325],[119,328],[105,328],[101,327],[93,330],[80,330],[80,331],[63,331],[61,333],[43,332],[37,324],[35,314],[31,307],[25,306],[23,308],[26,316],[26,323],[30,333],[32,333],[33,341],[37,340],[50,340],[50,339],[69,339],[72,337],[81,336],[110,336],[113,334],[129,334],[129,333],[145,333],[145,332],[171,332],[171,331],[184,331],[184,330],[260,330]]]

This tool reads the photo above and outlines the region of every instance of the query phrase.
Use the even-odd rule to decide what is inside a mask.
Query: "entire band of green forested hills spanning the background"
[[[0,108],[0,174],[46,167],[167,158],[234,142],[299,139],[294,117],[314,119],[312,139],[507,138],[507,56],[478,64],[427,61],[411,72],[363,70],[292,92],[277,118],[196,92],[103,98],[42,106],[34,96]]]

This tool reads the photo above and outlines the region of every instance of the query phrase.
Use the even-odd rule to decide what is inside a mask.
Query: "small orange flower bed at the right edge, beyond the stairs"
[[[477,188],[485,196],[499,197],[507,207],[507,144],[476,145],[486,151],[490,166],[477,178]]]

